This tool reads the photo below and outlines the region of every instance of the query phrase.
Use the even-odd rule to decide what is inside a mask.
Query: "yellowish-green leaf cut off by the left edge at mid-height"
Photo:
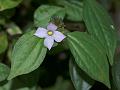
[[[0,54],[3,53],[8,46],[7,35],[5,33],[0,33]]]

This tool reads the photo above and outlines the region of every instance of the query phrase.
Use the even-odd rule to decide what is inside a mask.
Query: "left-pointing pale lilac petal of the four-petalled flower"
[[[47,29],[39,27],[34,35],[40,38],[45,38],[47,37]]]

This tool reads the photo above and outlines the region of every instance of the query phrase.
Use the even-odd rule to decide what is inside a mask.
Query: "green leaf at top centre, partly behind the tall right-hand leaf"
[[[65,8],[67,19],[82,21],[83,2],[82,0],[54,0],[54,2]]]

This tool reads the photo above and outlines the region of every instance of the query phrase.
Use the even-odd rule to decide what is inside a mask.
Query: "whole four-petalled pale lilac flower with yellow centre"
[[[57,31],[57,26],[53,23],[49,23],[47,29],[39,27],[35,32],[35,36],[39,38],[45,38],[44,45],[50,50],[54,42],[61,42],[66,36]]]

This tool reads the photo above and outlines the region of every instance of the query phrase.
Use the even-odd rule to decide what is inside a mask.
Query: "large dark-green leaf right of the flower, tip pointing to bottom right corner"
[[[67,40],[78,66],[92,79],[110,88],[109,64],[101,44],[85,32],[69,33]]]

